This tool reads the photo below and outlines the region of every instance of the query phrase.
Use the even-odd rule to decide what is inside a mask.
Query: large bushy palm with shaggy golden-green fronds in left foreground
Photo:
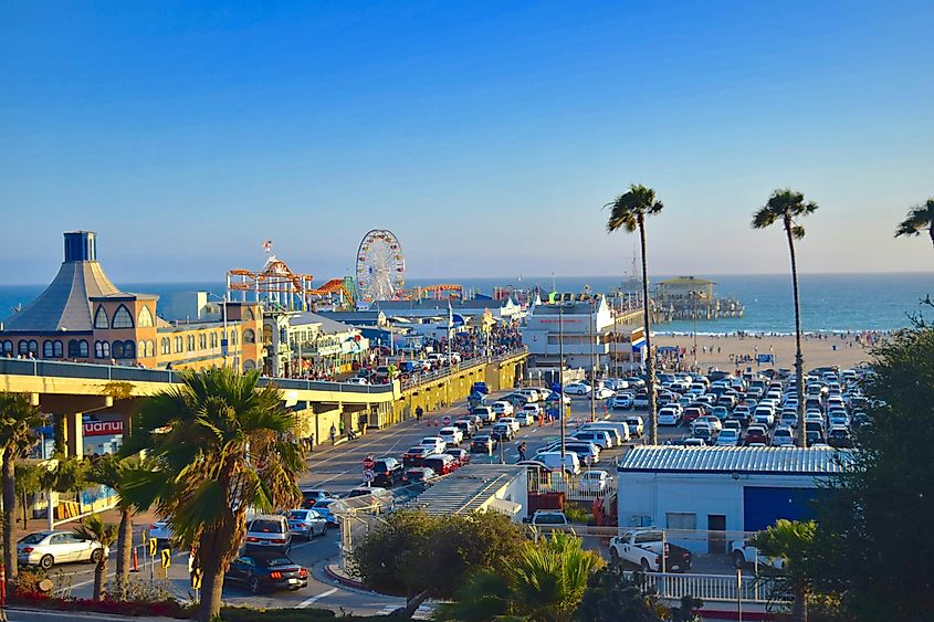
[[[196,551],[202,598],[198,619],[219,614],[224,571],[246,533],[248,507],[270,512],[301,500],[304,468],[296,421],[282,392],[259,388],[259,371],[186,371],[182,384],[151,396],[124,451],[148,450],[153,471],[126,477],[125,491],[170,517],[175,538]]]

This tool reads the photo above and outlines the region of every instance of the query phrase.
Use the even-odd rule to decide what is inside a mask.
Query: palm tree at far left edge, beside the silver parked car
[[[17,576],[17,547],[13,542],[13,513],[17,507],[17,461],[25,457],[39,442],[36,428],[45,424],[39,407],[29,393],[0,392],[0,451],[3,453],[3,563],[7,588]],[[51,508],[50,508],[51,512]]]

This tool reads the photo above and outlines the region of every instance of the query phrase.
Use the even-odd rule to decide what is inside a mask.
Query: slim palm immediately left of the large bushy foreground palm
[[[147,509],[144,499],[136,499],[127,492],[127,483],[139,472],[149,472],[151,466],[137,456],[119,457],[105,455],[91,468],[87,479],[103,484],[117,493],[117,509],[120,510],[120,525],[117,534],[117,573],[116,595],[126,600],[129,583],[129,567],[133,554],[133,515]]]

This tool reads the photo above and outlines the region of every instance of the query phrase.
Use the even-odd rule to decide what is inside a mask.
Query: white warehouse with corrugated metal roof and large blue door
[[[820,484],[851,456],[831,447],[637,446],[617,465],[619,526],[712,531],[680,544],[725,554],[724,534],[713,531],[814,518]]]

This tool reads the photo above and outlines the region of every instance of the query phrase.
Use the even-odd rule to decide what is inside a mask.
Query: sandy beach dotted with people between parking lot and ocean
[[[756,355],[774,354],[775,368],[791,369],[795,366],[795,337],[794,336],[697,336],[697,365],[702,371],[710,367],[724,370],[736,369],[735,357],[749,357],[748,362],[741,362],[739,368],[768,369],[772,363],[756,365]],[[825,335],[818,337],[809,335],[802,345],[805,356],[805,371],[815,367],[836,365],[841,369],[854,367],[870,358],[869,351],[853,336]],[[678,346],[685,349],[683,361],[690,367],[694,357],[691,349],[694,346],[694,337],[690,335],[652,337],[652,346]],[[673,369],[669,366],[669,369]]]

